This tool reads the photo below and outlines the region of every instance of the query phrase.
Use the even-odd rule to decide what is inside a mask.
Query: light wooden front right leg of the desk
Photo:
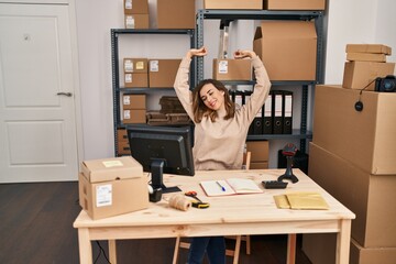
[[[348,264],[351,243],[351,220],[341,220],[340,232],[337,234],[337,264]]]

